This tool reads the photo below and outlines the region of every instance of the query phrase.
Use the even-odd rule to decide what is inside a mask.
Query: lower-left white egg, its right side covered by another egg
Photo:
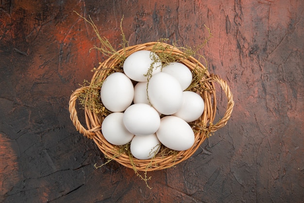
[[[122,112],[111,113],[104,118],[101,125],[103,137],[113,145],[125,145],[134,137],[124,126],[122,117]]]

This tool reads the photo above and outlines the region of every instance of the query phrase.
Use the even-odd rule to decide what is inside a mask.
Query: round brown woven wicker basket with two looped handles
[[[125,49],[119,50],[118,54],[128,56],[139,50],[151,51],[155,43],[157,42],[149,42],[145,44],[130,46]],[[168,52],[170,52],[173,55],[179,56],[183,54],[182,51],[169,44],[163,43],[163,45],[166,46],[166,50],[168,50]],[[101,68],[108,68],[108,69],[113,68],[117,66],[119,62],[120,61],[117,57],[111,56],[103,63],[101,63],[101,65],[97,70]],[[226,125],[228,119],[230,118],[234,106],[233,95],[230,92],[230,88],[228,87],[227,83],[223,81],[219,76],[209,74],[206,68],[197,59],[191,56],[188,57],[187,59],[184,59],[182,63],[184,63],[191,71],[197,67],[205,70],[205,77],[203,78],[204,87],[202,87],[202,89],[200,90],[200,95],[202,96],[205,102],[205,109],[203,115],[195,123],[195,125],[201,124],[198,126],[201,126],[202,128],[198,131],[195,131],[195,143],[191,148],[185,151],[178,151],[175,154],[166,155],[166,156],[157,154],[152,160],[151,159],[138,160],[135,157],[130,158],[128,152],[123,152],[118,154],[118,146],[114,146],[108,143],[101,134],[101,123],[102,120],[104,119],[104,116],[100,116],[95,112],[89,111],[87,108],[84,108],[86,128],[78,120],[77,111],[75,108],[76,100],[78,99],[78,96],[81,92],[84,92],[86,88],[89,88],[86,86],[77,89],[70,96],[70,101],[69,101],[70,119],[72,120],[74,126],[80,133],[84,134],[84,136],[86,136],[87,138],[94,140],[94,142],[96,143],[96,145],[98,146],[98,148],[101,150],[102,153],[106,154],[107,157],[117,161],[123,166],[140,171],[161,170],[161,169],[169,168],[171,166],[175,166],[181,163],[182,161],[188,159],[200,147],[200,145],[206,139],[209,132],[214,132]],[[105,72],[96,71],[92,77],[92,81],[93,79],[96,79],[97,76],[99,79],[104,80],[107,76],[104,73]],[[104,74],[104,75],[99,75],[99,74]],[[223,117],[220,119],[219,122],[213,125],[212,123],[214,121],[216,108],[217,108],[214,82],[219,83],[223,92],[227,96],[228,102],[227,102],[227,109],[225,114],[223,115]]]

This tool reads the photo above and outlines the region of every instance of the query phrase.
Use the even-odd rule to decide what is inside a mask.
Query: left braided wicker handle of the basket
[[[86,89],[89,87],[84,86],[81,88],[78,88],[75,92],[73,92],[70,96],[70,100],[68,102],[68,111],[70,112],[70,119],[72,120],[74,126],[76,127],[77,131],[82,133],[84,136],[86,136],[89,139],[93,139],[93,136],[95,135],[94,130],[87,130],[84,128],[83,125],[81,125],[80,121],[78,120],[77,111],[75,109],[76,106],[76,100],[78,99],[78,96],[80,93],[85,92]]]

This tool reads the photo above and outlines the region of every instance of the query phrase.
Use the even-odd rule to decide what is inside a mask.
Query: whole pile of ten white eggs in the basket
[[[110,74],[101,86],[101,102],[112,112],[101,125],[104,138],[112,145],[131,142],[132,155],[141,160],[151,159],[161,145],[178,151],[191,148],[195,137],[188,123],[204,111],[203,98],[186,91],[191,82],[192,73],[182,63],[162,67],[158,56],[147,50],[129,55],[123,73]]]

